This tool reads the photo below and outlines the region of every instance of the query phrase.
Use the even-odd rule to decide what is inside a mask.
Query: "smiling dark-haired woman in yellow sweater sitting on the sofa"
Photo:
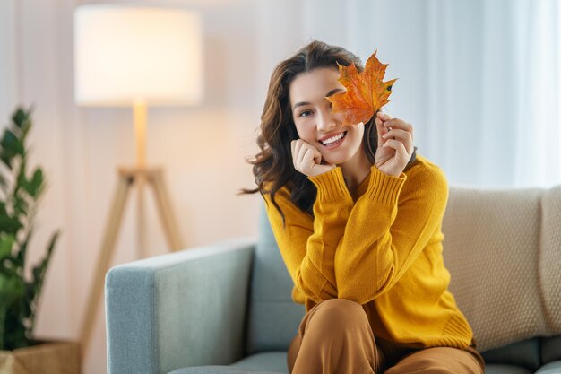
[[[325,97],[345,91],[349,51],[314,41],[280,63],[265,101],[257,188],[306,316],[291,373],[483,373],[448,291],[444,174],[413,127],[377,112],[343,126]]]

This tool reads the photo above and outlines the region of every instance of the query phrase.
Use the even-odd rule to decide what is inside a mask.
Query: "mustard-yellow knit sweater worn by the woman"
[[[328,299],[360,303],[376,337],[411,348],[467,347],[472,331],[448,291],[441,231],[448,186],[422,156],[399,178],[371,168],[351,196],[341,168],[309,178],[315,219],[282,187],[265,194],[272,231],[306,310]]]

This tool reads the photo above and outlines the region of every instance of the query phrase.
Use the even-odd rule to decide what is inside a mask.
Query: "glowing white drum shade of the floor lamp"
[[[198,14],[130,4],[74,10],[74,100],[84,106],[194,105],[203,99]]]

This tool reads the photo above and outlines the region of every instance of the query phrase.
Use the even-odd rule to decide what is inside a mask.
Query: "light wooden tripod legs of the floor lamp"
[[[182,248],[179,231],[174,219],[168,191],[163,180],[163,171],[161,168],[119,168],[117,190],[113,198],[113,204],[109,212],[109,218],[105,229],[105,235],[99,249],[99,258],[96,265],[96,271],[91,286],[88,304],[86,305],[85,317],[82,322],[82,352],[87,352],[87,347],[91,339],[91,329],[94,326],[97,306],[102,300],[105,274],[108,272],[111,257],[115,250],[117,242],[117,234],[122,222],[125,204],[129,191],[134,184],[142,187],[143,183],[147,183],[152,187],[156,197],[156,204],[160,213],[160,221],[168,240],[168,246],[172,250]]]

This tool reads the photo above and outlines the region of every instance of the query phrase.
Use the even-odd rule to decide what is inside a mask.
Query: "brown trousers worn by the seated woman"
[[[362,307],[332,299],[306,313],[288,352],[291,374],[483,374],[473,346],[403,348],[375,338]]]

